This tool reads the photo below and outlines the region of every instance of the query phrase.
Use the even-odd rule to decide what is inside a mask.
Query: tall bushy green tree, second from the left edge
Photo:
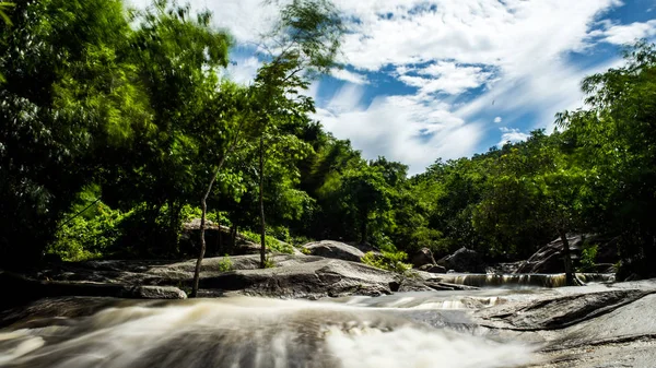
[[[207,107],[226,106],[218,95],[229,87],[220,84],[216,71],[227,66],[232,43],[225,32],[211,26],[211,19],[210,12],[195,16],[189,5],[166,0],[156,0],[136,14],[140,25],[130,38],[130,58],[149,97],[153,129],[140,132],[137,147],[130,152],[136,169],[121,170],[107,181],[121,182],[120,192],[132,193],[121,195],[128,205],[145,204],[145,226],[154,232],[142,253],[149,252],[149,246],[164,246],[165,251],[175,253],[180,210],[196,202],[206,188],[196,178],[207,169],[206,159],[220,161],[222,156],[222,149],[212,150],[208,142],[216,141],[213,144],[222,147],[231,140],[222,135],[222,128],[232,117],[222,120],[222,111],[208,111]],[[208,127],[216,120],[221,128]],[[164,207],[167,224],[157,229]]]

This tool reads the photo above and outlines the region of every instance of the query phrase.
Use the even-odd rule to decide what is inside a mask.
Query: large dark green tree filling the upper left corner
[[[149,108],[119,51],[131,34],[120,1],[24,1],[12,21],[0,35],[0,262],[19,266],[40,259],[107,153],[149,124]]]

